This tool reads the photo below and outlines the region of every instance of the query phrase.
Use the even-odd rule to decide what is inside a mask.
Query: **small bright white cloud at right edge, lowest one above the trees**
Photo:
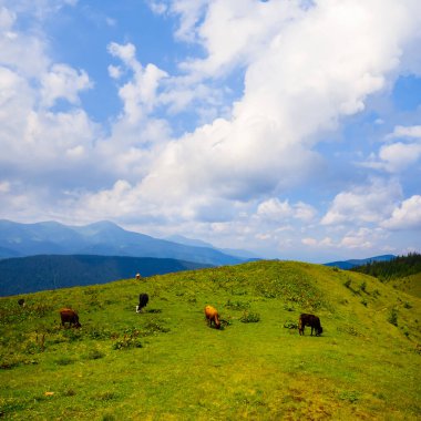
[[[421,229],[421,196],[414,195],[403,201],[381,225],[393,230]]]

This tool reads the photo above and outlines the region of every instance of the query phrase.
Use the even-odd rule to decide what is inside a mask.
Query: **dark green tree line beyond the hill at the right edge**
[[[421,255],[410,253],[408,256],[398,256],[389,261],[371,261],[351,270],[374,276],[382,281],[403,278],[421,271]]]

